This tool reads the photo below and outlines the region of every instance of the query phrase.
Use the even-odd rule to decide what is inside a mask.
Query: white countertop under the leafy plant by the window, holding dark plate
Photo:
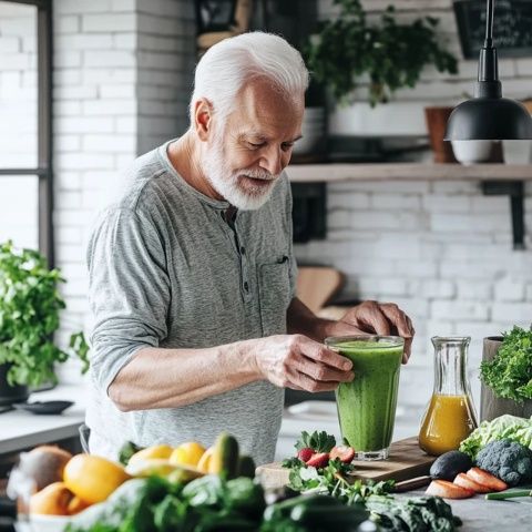
[[[74,401],[60,415],[42,416],[23,410],[0,413],[0,454],[78,437],[78,429],[85,419],[85,397],[82,386],[58,386],[53,390],[32,393],[30,402]]]

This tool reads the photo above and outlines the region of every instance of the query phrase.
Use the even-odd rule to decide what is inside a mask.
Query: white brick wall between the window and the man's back
[[[186,0],[54,0],[57,264],[68,284],[58,336],[90,326],[84,247],[133,158],[186,129],[194,66]],[[61,368],[79,380],[79,366]]]

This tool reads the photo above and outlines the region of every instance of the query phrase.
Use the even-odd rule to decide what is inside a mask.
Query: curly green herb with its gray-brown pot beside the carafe
[[[480,365],[483,420],[510,413],[532,416],[532,330],[513,327],[502,337],[484,338]]]

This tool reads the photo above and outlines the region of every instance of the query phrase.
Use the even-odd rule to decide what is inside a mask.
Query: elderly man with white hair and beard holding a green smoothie
[[[136,160],[89,244],[91,452],[234,433],[274,457],[284,387],[324,391],[354,378],[332,335],[413,335],[392,304],[318,319],[295,297],[286,175],[308,72],[282,38],[247,33],[196,68],[191,126]],[[406,359],[408,359],[407,349]],[[406,361],[405,359],[405,361]]]

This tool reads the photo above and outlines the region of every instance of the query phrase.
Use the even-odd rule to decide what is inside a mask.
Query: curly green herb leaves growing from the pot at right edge
[[[480,378],[497,397],[516,402],[532,399],[532,330],[515,326],[503,334],[493,360],[481,362]]]

